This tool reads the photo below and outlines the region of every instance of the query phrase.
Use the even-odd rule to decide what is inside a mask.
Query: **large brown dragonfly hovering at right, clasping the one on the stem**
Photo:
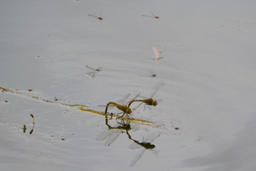
[[[158,85],[156,87],[156,90],[154,91],[154,93],[152,94],[152,96],[150,98],[147,98],[147,97],[144,97],[144,96],[141,96],[139,95],[139,97],[143,98],[144,100],[131,100],[129,103],[128,103],[128,107],[130,107],[131,103],[133,102],[141,102],[139,105],[137,105],[137,107],[133,108],[133,110],[136,110],[142,103],[145,103],[145,108],[146,108],[146,105],[153,105],[153,106],[156,106],[157,105],[157,102],[160,103],[162,102],[163,100],[160,100],[160,99],[153,99],[153,97],[156,95],[157,91],[163,86],[163,83],[161,83],[160,85]],[[144,108],[144,110],[145,110]],[[149,107],[148,107],[149,108]],[[151,109],[151,108],[149,108]],[[143,111],[144,111],[143,110]]]

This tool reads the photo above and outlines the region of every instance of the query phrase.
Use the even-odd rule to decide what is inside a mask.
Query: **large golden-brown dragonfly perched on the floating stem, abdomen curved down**
[[[125,103],[126,100],[128,99],[128,97],[131,95],[131,93],[128,93],[125,97],[123,97],[121,100],[118,100],[116,103],[114,102],[109,102],[107,105],[98,105],[99,107],[106,107],[105,109],[105,114],[107,114],[108,108],[118,108],[119,110],[123,111],[119,114],[123,114],[122,117],[126,114],[126,117],[129,117],[128,114],[131,115],[132,111],[131,109],[127,106],[127,104],[129,103]],[[140,95],[140,93],[134,97],[132,100],[136,99],[138,96]],[[131,100],[131,101],[132,101]],[[116,114],[116,119],[117,119],[118,114]]]

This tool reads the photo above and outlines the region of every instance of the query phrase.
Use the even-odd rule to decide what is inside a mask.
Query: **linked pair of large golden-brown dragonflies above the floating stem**
[[[158,89],[157,89],[158,90]],[[116,103],[114,102],[109,102],[107,105],[98,105],[99,107],[106,107],[105,109],[105,114],[107,114],[108,108],[118,108],[119,110],[121,110],[122,112],[119,114],[123,114],[122,117],[126,114],[126,117],[129,118],[129,115],[131,116],[131,113],[136,110],[142,103],[145,103],[145,107],[146,105],[153,105],[156,106],[157,102],[162,102],[163,100],[160,99],[153,99],[153,97],[155,96],[155,94],[157,93],[157,90],[154,92],[154,94],[150,97],[150,98],[146,98],[143,97],[139,94],[137,94],[136,97],[134,97],[132,100],[130,100],[129,102],[125,103],[126,100],[128,99],[128,97],[131,95],[131,93],[127,94],[125,97],[123,97],[121,100],[117,101]],[[135,100],[137,97],[143,98],[143,100]],[[130,108],[131,103],[133,102],[141,102],[139,105],[137,105],[137,107],[133,108],[133,111]],[[148,107],[149,108],[149,107]],[[149,108],[150,109],[150,108]],[[145,110],[145,108],[144,108]],[[144,111],[143,110],[143,111]],[[116,114],[116,118],[117,118],[118,114]],[[132,116],[131,116],[132,117]]]

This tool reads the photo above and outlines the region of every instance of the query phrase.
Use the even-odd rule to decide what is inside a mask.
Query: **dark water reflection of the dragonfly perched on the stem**
[[[124,121],[117,122],[117,126],[111,126],[108,124],[108,119],[106,118],[106,125],[108,126],[108,130],[102,131],[98,137],[96,138],[97,141],[105,140],[105,146],[111,145],[120,134],[124,133],[124,131],[128,132],[129,130],[133,129],[134,131],[139,130],[139,124],[138,123],[131,123],[130,121]]]

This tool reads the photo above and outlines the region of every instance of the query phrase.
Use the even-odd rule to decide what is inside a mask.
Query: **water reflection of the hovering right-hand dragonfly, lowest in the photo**
[[[127,134],[128,134],[128,132],[127,132]],[[152,151],[152,149],[156,147],[154,144],[151,144],[151,142],[153,142],[156,138],[158,138],[160,136],[160,134],[162,134],[162,132],[155,132],[155,133],[148,134],[147,136],[143,137],[142,142],[133,140],[131,138],[130,134],[128,134],[129,139],[134,141],[133,143],[131,143],[129,148],[136,149],[136,148],[144,147],[143,150],[139,151],[139,153],[135,155],[134,159],[131,161],[130,167],[133,167],[136,164],[136,162],[142,157],[142,155],[145,153],[145,151],[147,149]],[[153,154],[159,154],[158,150],[154,150],[152,152],[153,152]]]

